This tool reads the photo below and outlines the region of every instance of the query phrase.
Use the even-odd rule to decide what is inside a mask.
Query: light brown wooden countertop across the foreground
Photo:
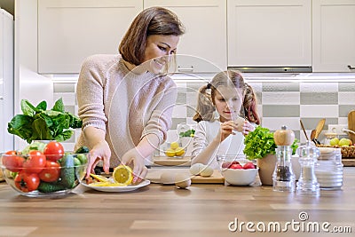
[[[272,186],[193,184],[188,189],[151,184],[131,193],[100,193],[78,186],[75,194],[36,199],[16,194],[0,183],[0,236],[330,236],[320,233],[249,233],[246,225],[233,233],[228,225],[241,222],[304,224],[328,222],[355,232],[355,167],[344,169],[344,186],[321,191],[319,198],[273,192]],[[300,212],[308,220],[300,221]],[[231,225],[234,227],[234,225]]]

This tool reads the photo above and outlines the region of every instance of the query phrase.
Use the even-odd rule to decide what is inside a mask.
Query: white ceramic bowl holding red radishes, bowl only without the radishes
[[[225,169],[222,170],[222,175],[225,181],[230,185],[249,186],[254,183],[258,170],[259,168],[248,170]]]

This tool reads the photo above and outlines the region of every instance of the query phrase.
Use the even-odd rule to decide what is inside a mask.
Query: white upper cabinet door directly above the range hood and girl
[[[311,1],[227,2],[229,67],[311,67]]]

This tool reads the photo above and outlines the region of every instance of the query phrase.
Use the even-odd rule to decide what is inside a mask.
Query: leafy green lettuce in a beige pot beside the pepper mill
[[[298,140],[292,144],[292,154],[296,154]],[[244,154],[249,160],[256,160],[259,167],[259,177],[263,185],[272,185],[272,173],[275,170],[276,143],[273,139],[273,132],[267,128],[257,126],[249,132],[244,139]]]

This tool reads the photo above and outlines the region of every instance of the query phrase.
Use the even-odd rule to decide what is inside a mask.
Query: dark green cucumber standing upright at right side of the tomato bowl
[[[75,169],[73,154],[65,154],[60,161],[60,185],[72,188],[75,183]]]

